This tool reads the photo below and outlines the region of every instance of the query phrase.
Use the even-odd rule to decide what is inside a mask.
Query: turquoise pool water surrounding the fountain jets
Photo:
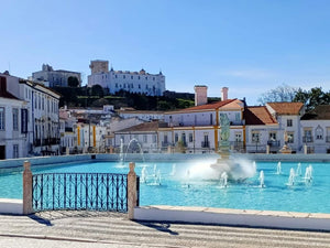
[[[198,166],[195,171],[194,166]],[[298,163],[282,162],[282,174],[276,174],[277,162],[256,162],[254,177],[241,183],[229,182],[221,186],[219,180],[197,176],[209,170],[209,162],[136,163],[135,172],[146,174],[140,184],[140,205],[205,206],[238,209],[285,211],[330,214],[330,164],[302,163],[301,176],[293,186],[287,185],[290,169]],[[305,183],[307,166],[312,165],[312,183]],[[143,169],[145,168],[145,169]],[[260,171],[264,172],[265,187],[260,186]],[[128,173],[128,163],[96,162],[64,164],[32,169],[33,173],[99,172]],[[196,175],[197,174],[197,175]],[[201,173],[202,174],[202,173]],[[158,176],[161,175],[161,176]],[[0,175],[0,197],[22,198],[22,172]]]

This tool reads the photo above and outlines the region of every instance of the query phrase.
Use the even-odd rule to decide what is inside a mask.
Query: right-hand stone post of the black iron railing
[[[128,218],[134,218],[134,207],[136,206],[136,173],[135,163],[130,162],[130,172],[128,174]]]

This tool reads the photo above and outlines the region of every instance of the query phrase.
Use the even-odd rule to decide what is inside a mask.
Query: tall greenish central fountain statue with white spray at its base
[[[221,141],[219,147],[220,159],[217,163],[211,164],[218,173],[218,177],[222,175],[223,172],[227,173],[228,180],[231,181],[244,181],[248,177],[252,177],[255,174],[255,164],[248,161],[239,161],[230,159],[229,152],[229,136],[230,136],[230,121],[226,114],[220,114],[221,123]]]

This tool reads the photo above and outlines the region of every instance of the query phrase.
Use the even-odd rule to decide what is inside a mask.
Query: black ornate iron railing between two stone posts
[[[139,183],[139,177],[136,183]],[[36,212],[92,209],[125,213],[128,211],[127,191],[127,174],[35,174],[33,175],[33,209]]]

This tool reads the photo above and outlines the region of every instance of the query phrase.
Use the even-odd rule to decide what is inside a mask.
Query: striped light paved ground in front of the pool
[[[125,215],[53,212],[0,215],[0,247],[328,247],[330,233],[130,222]]]

